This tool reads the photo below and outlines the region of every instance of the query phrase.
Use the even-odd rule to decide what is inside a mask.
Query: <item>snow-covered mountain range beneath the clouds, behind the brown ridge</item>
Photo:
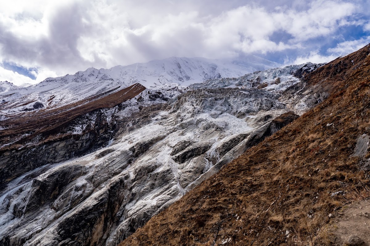
[[[105,96],[135,83],[170,98],[184,92],[185,87],[192,83],[239,77],[280,66],[257,56],[228,61],[171,57],[110,69],[88,68],[74,75],[48,78],[28,87],[0,82],[0,119],[20,112],[61,107],[86,98]]]

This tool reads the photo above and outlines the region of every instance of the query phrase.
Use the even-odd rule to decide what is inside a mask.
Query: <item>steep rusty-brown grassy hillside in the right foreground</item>
[[[303,83],[330,96],[223,166],[121,246],[344,245],[347,231],[370,243],[367,211],[353,226],[361,231],[344,222],[338,233],[335,224],[344,205],[361,210],[356,201],[370,197],[370,45],[296,86]]]

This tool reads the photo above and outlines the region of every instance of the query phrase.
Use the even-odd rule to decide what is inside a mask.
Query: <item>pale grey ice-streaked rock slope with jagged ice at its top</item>
[[[110,146],[13,180],[1,195],[0,242],[116,245],[253,134],[261,124],[250,117],[287,111],[268,91],[236,88],[189,91],[151,107],[128,118],[142,122]]]

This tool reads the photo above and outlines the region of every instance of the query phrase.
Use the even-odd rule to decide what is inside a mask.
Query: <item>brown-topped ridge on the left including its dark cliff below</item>
[[[136,84],[98,100],[87,98],[81,105],[73,104],[64,110],[58,108],[4,121],[5,129],[0,133],[3,143],[0,190],[6,182],[29,170],[107,145],[122,111],[135,97],[141,97],[144,90],[145,87]],[[127,100],[131,101],[122,104]]]

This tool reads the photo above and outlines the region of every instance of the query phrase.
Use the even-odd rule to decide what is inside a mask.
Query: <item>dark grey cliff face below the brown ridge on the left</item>
[[[100,113],[101,111],[97,111],[97,114]],[[98,118],[102,119],[102,117]],[[77,119],[73,123],[79,122],[79,120]],[[14,152],[12,149],[2,151],[0,157],[1,184],[6,184],[7,180],[46,163],[58,163],[106,145],[112,137],[115,126],[110,125],[107,121],[99,121],[99,124],[96,125],[94,124],[96,121],[92,121],[92,123],[87,125],[81,134],[66,134],[61,139],[48,141],[41,145],[30,145]],[[43,154],[40,155],[40,153]],[[9,165],[9,163],[13,164]]]

